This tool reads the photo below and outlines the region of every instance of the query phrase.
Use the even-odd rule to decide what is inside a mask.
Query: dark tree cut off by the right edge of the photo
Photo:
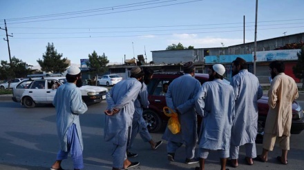
[[[294,67],[292,67],[292,72],[296,78],[304,78],[304,46],[302,46],[301,51],[296,54],[298,56],[298,62]],[[304,79],[302,80],[302,88],[304,88]]]

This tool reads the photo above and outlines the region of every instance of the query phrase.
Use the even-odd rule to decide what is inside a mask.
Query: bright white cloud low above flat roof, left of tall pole
[[[173,39],[168,40],[169,44],[178,44],[182,43],[184,47],[189,45],[194,46],[195,48],[207,48],[207,47],[222,47],[222,44],[225,47],[231,45],[238,45],[243,43],[243,39],[222,39],[213,36],[198,37],[197,34],[174,34]],[[246,41],[248,42],[248,40]]]

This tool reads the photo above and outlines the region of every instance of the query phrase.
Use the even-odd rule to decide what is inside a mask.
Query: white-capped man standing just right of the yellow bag
[[[198,156],[200,167],[205,169],[205,160],[209,151],[220,153],[221,169],[226,169],[229,157],[231,125],[234,119],[234,88],[222,81],[225,67],[216,64],[209,69],[210,80],[200,88],[196,98],[196,111],[202,116],[202,124],[198,134]]]

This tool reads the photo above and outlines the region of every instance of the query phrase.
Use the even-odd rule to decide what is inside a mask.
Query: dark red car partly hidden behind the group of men
[[[148,85],[149,92],[149,109],[144,110],[144,120],[148,125],[150,132],[157,132],[167,125],[169,117],[165,116],[162,108],[167,106],[164,92],[162,92],[162,85],[164,83],[171,83],[174,78],[182,76],[182,72],[155,72],[151,82]],[[205,83],[209,79],[208,74],[196,73],[196,79],[200,83]],[[224,79],[227,83],[226,79]],[[258,100],[258,137],[263,136],[264,125],[267,117],[269,106],[267,104],[268,97],[263,96]],[[292,134],[300,134],[304,129],[303,109],[296,101],[292,103]]]

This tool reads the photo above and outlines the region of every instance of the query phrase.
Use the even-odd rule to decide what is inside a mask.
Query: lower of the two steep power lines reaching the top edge
[[[104,15],[104,14],[116,14],[116,13],[122,13],[122,12],[131,12],[131,11],[137,11],[137,10],[146,10],[146,9],[152,9],[152,8],[160,8],[164,6],[175,6],[175,5],[180,5],[184,3],[193,3],[196,1],[202,1],[202,0],[195,0],[195,1],[187,1],[187,2],[181,2],[181,3],[171,3],[168,5],[162,5],[162,6],[153,6],[153,7],[146,7],[146,8],[138,8],[138,9],[133,9],[133,10],[122,10],[122,11],[117,11],[117,12],[107,12],[107,13],[102,13],[102,14],[88,14],[88,15],[83,15],[83,16],[77,16],[77,17],[65,17],[65,18],[59,18],[59,19],[44,19],[44,20],[37,20],[37,21],[23,21],[23,22],[12,22],[10,24],[17,24],[17,23],[34,23],[34,22],[41,22],[41,21],[55,21],[55,20],[63,20],[63,19],[75,19],[75,18],[81,18],[81,17],[92,17],[92,16],[98,16],[98,15]]]

